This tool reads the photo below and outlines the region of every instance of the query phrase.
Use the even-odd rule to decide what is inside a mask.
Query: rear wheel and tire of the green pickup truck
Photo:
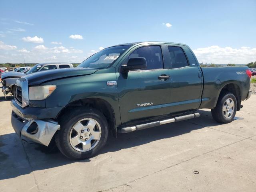
[[[230,123],[236,115],[237,101],[231,92],[223,92],[212,109],[212,117],[219,123]]]

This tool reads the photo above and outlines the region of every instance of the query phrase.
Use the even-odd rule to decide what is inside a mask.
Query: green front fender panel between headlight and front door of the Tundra
[[[81,99],[99,98],[110,104],[116,115],[116,124],[120,124],[120,111],[117,85],[107,85],[107,81],[116,81],[115,72],[94,73],[47,82],[57,85],[56,90],[46,98],[46,108],[67,106]]]

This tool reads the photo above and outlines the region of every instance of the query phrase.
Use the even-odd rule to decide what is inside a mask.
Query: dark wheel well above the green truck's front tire
[[[106,100],[103,100],[103,99],[88,98],[88,99],[80,99],[80,100],[71,102],[58,114],[57,119],[63,114],[65,114],[66,112],[70,112],[70,110],[78,106],[84,106],[85,108],[86,107],[94,108],[102,112],[102,114],[104,114],[108,122],[108,128],[112,130],[113,136],[117,137],[116,118],[115,118],[114,110],[112,106]]]

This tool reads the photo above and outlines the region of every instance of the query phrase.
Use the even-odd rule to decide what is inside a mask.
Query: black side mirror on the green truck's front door
[[[121,72],[127,73],[130,70],[146,69],[147,61],[144,57],[130,58],[127,65],[121,66]]]

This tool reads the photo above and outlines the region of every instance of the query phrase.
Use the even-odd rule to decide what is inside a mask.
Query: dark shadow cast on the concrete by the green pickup
[[[110,137],[100,154],[116,152],[164,138],[172,138],[207,126],[220,125],[212,119],[209,111],[200,110],[200,114],[200,118],[119,134],[118,138]],[[90,161],[90,159],[87,159],[78,162],[86,163]],[[15,133],[0,136],[0,180],[74,162],[77,161],[67,159],[58,150],[52,150],[52,148],[38,144],[27,144],[24,141],[21,143]]]

